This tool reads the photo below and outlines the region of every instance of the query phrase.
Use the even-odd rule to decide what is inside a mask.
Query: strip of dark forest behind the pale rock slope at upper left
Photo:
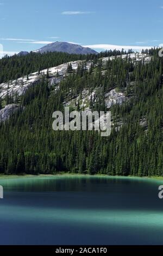
[[[84,60],[85,57],[85,55],[65,52],[48,52],[44,54],[30,52],[26,56],[18,56],[16,54],[12,57],[6,56],[0,60],[0,83],[15,80],[24,75],[58,66],[62,63],[79,59]]]

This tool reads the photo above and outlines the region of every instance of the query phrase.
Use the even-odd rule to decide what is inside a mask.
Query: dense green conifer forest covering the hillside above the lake
[[[49,86],[48,74],[42,76],[41,82],[18,98],[18,111],[0,124],[0,173],[163,175],[163,60],[157,50],[146,53],[152,56],[148,63],[129,55],[102,62],[101,57],[112,52],[87,56],[91,68],[87,70],[85,62],[76,71],[68,66],[59,86]],[[1,82],[76,59],[85,58],[65,53],[4,58]],[[12,61],[16,64],[8,74]],[[112,89],[126,100],[109,108],[109,137],[97,131],[52,130],[52,113],[63,110],[65,102],[80,111],[85,107],[106,111],[105,95]],[[86,90],[89,95],[96,91],[96,96],[83,106]],[[75,105],[72,99],[78,99]]]

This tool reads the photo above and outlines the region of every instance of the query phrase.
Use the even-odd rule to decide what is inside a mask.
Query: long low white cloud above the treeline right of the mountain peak
[[[98,45],[83,45],[83,47],[89,47],[97,50],[129,50],[141,51],[142,49],[150,49],[152,46],[137,46],[137,45],[109,45],[109,44],[98,44]]]

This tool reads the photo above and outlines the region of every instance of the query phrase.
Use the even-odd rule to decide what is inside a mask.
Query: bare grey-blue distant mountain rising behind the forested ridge
[[[70,54],[98,54],[95,50],[81,45],[71,44],[70,42],[52,42],[51,44],[45,45],[40,49],[33,51],[35,53],[46,53],[46,52],[67,52]],[[26,55],[28,52],[20,52],[18,56]]]

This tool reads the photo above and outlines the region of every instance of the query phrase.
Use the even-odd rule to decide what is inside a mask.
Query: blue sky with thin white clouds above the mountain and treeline
[[[0,0],[0,21],[5,53],[53,41],[97,51],[163,43],[163,0]]]

